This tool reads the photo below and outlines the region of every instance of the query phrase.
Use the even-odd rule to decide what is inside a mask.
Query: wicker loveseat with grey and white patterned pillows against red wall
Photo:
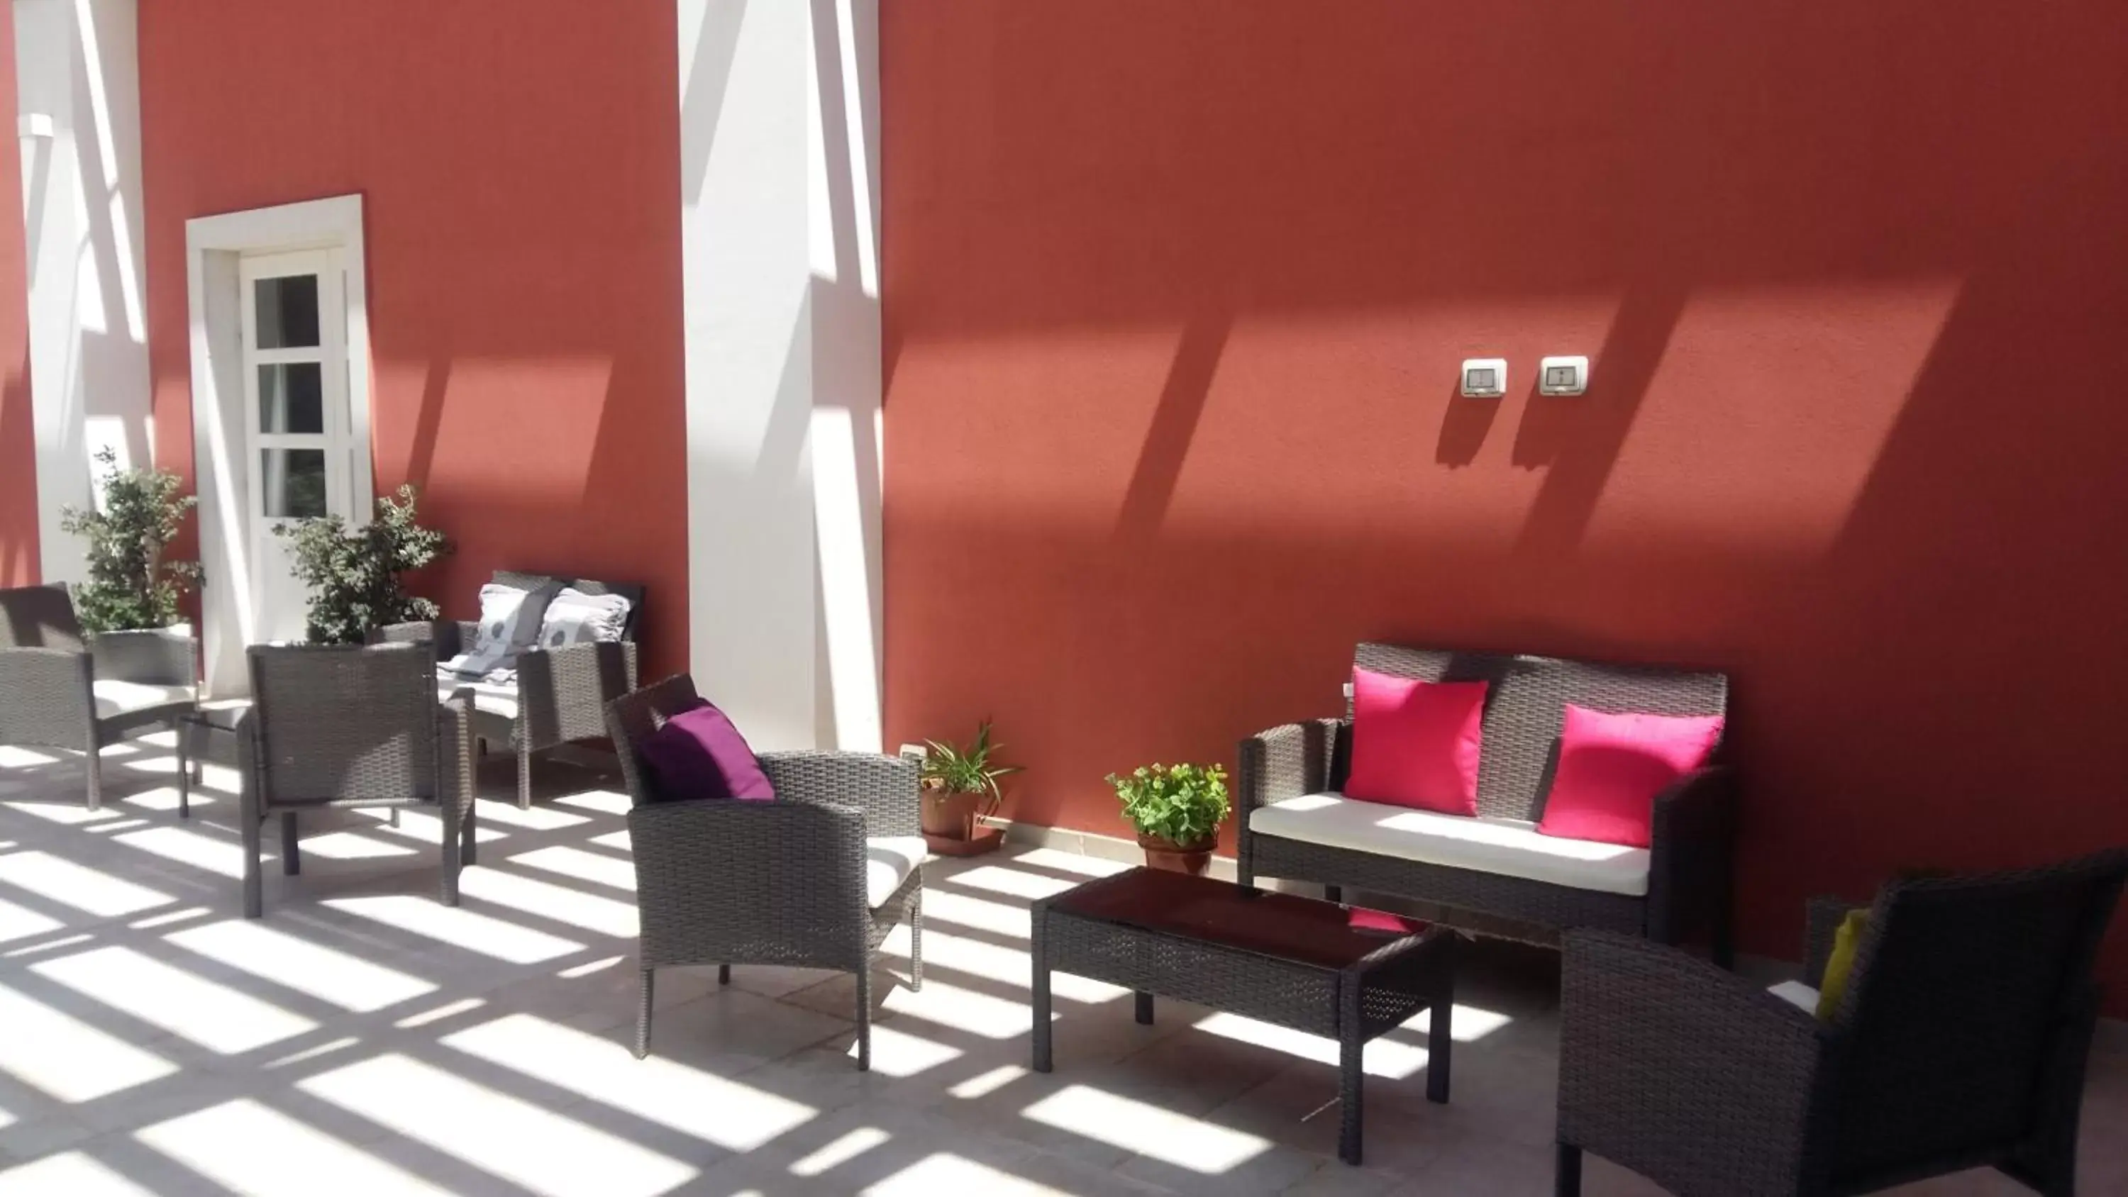
[[[538,591],[568,585],[589,595],[621,595],[628,600],[628,623],[619,642],[572,644],[568,648],[528,648],[517,655],[517,682],[509,687],[438,682],[443,691],[464,685],[472,693],[472,734],[483,744],[509,744],[517,755],[517,806],[532,806],[532,755],[575,740],[596,740],[606,734],[604,708],[615,697],[636,689],[636,627],[643,614],[643,587],[628,583],[594,583],[589,578],[549,578],[496,570],[496,585]],[[434,659],[449,661],[472,646],[479,623],[438,619],[434,623],[396,623],[370,634],[372,642],[428,640]]]

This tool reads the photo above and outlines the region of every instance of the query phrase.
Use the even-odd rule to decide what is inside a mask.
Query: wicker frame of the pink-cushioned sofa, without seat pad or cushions
[[[1353,661],[1402,678],[1490,685],[1477,808],[1479,816],[1502,821],[1534,823],[1543,814],[1568,702],[1653,714],[1722,714],[1728,708],[1728,678],[1722,674],[1394,644],[1360,644]],[[1349,765],[1349,710],[1345,719],[1287,723],[1241,742],[1234,827],[1243,884],[1258,876],[1307,880],[1328,887],[1332,899],[1349,884],[1439,904],[1447,923],[1456,923],[1460,912],[1477,914],[1473,929],[1479,931],[1498,931],[1498,921],[1547,931],[1602,927],[1662,944],[1705,933],[1715,961],[1730,963],[1736,799],[1719,753],[1709,768],[1656,795],[1645,893],[1426,863],[1258,825],[1264,808],[1341,791]],[[1270,819],[1262,823],[1270,825]]]

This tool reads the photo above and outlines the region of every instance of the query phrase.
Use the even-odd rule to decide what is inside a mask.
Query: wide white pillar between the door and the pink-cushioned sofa
[[[677,0],[696,685],[881,746],[877,0]]]

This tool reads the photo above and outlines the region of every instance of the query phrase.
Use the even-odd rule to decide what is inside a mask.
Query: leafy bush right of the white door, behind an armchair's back
[[[402,574],[451,551],[451,540],[415,523],[415,489],[377,498],[377,519],[349,529],[336,515],[283,523],[296,576],[311,587],[313,644],[362,644],[372,627],[436,619],[436,604],[406,593]]]

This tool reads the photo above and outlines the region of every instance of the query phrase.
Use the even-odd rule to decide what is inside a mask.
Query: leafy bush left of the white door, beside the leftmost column
[[[183,619],[185,591],[200,585],[198,561],[164,561],[179,523],[200,500],[179,495],[168,470],[119,470],[117,451],[96,451],[102,508],[62,508],[60,527],[87,538],[89,580],[74,587],[74,614],[89,631],[143,631]]]

